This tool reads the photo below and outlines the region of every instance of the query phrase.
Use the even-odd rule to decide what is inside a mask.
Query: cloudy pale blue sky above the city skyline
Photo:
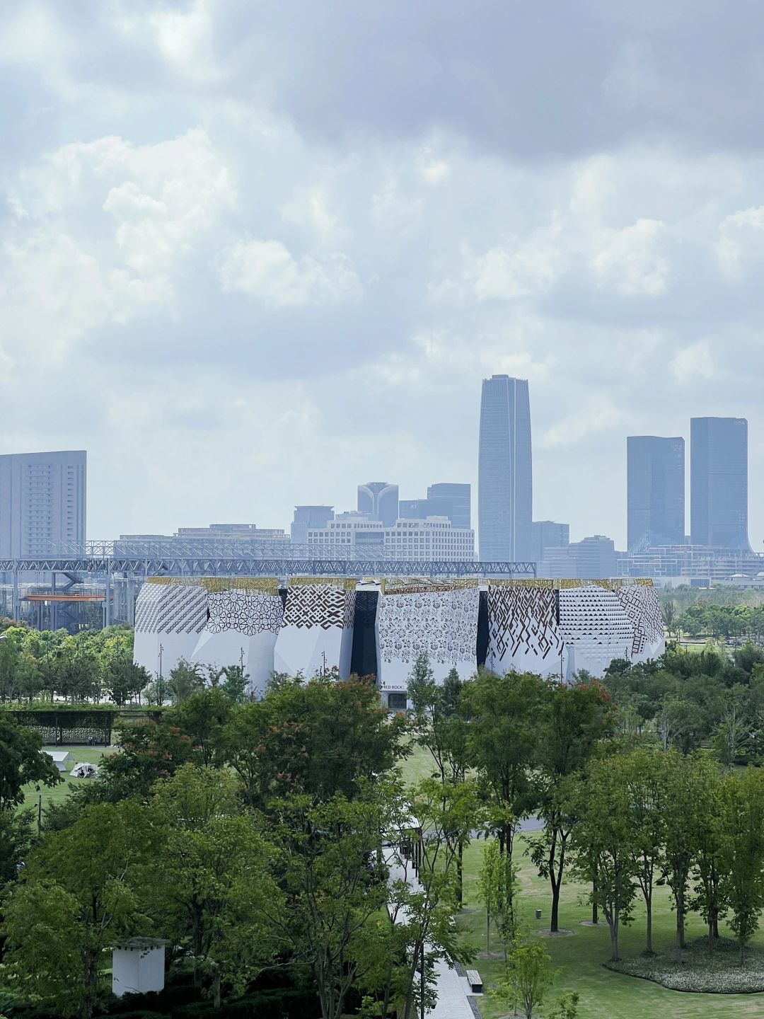
[[[626,435],[746,417],[761,549],[763,30],[758,0],[0,0],[0,451],[86,448],[91,538],[288,530],[370,480],[477,488],[506,373],[534,519],[623,547]]]

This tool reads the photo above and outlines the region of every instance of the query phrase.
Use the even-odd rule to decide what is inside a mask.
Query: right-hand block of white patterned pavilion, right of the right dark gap
[[[663,653],[660,602],[652,584],[621,581],[491,582],[486,667],[570,682],[600,678],[614,658]]]

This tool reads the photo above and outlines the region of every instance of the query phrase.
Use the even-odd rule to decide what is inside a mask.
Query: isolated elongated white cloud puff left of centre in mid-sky
[[[273,308],[341,304],[361,297],[361,281],[345,255],[295,259],[280,240],[239,240],[222,253],[223,290],[239,290]]]

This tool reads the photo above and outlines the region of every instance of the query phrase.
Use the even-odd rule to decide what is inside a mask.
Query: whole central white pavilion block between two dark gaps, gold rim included
[[[427,652],[436,680],[451,668],[462,680],[477,667],[477,583],[385,582],[377,612],[377,683],[402,691],[419,654]]]

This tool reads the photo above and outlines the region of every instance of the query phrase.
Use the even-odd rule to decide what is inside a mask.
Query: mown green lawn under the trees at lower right
[[[478,951],[485,951],[485,913],[477,901],[475,888],[478,868],[482,862],[482,842],[474,842],[465,856],[465,906],[475,912],[466,912],[460,922],[472,931],[472,943]],[[521,837],[516,844],[522,894],[521,921],[529,931],[549,926],[550,896],[545,881],[536,874],[528,857],[523,856],[528,846]],[[694,995],[667,990],[658,984],[635,977],[623,976],[605,969],[602,965],[610,955],[610,937],[607,925],[581,926],[582,920],[591,919],[591,907],[583,902],[586,889],[569,883],[562,889],[560,926],[574,931],[569,937],[545,938],[544,944],[552,957],[552,966],[562,972],[555,983],[548,1004],[564,990],[577,990],[581,997],[579,1015],[587,1019],[732,1019],[734,1016],[759,1015],[764,1011],[764,994],[760,995]],[[542,919],[535,919],[535,910],[541,909]],[[653,938],[656,948],[672,944],[674,914],[670,909],[668,892],[656,889],[654,904]],[[699,917],[693,916],[688,927],[688,938],[705,933]],[[729,933],[722,930],[722,933]],[[732,936],[729,934],[729,936]],[[638,908],[635,921],[621,929],[621,956],[638,955],[644,951],[645,912]],[[757,934],[752,944],[764,947],[764,934]],[[491,938],[491,950],[495,947]],[[486,985],[490,985],[502,970],[500,960],[479,959],[476,963]],[[477,999],[485,1019],[498,1019],[507,1010],[488,996]],[[540,1015],[544,1009],[540,1010]]]

